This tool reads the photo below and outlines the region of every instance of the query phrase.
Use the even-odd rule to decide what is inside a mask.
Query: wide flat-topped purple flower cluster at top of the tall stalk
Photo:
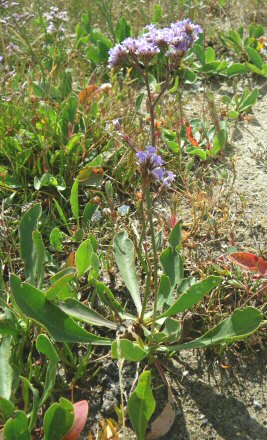
[[[165,56],[179,62],[186,51],[198,39],[202,29],[189,19],[172,23],[159,29],[155,24],[146,27],[146,32],[137,38],[126,38],[109,51],[109,67],[148,62],[161,50]]]

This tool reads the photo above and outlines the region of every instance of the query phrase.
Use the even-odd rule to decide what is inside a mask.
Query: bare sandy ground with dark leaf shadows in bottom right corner
[[[212,362],[200,352],[182,353],[170,371],[177,415],[164,439],[265,439],[265,355],[231,354],[227,361]]]

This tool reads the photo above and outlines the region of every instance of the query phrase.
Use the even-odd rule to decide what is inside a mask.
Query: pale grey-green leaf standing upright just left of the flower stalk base
[[[142,310],[139,284],[135,270],[134,245],[127,232],[119,232],[114,239],[114,256],[122,279],[140,314]]]

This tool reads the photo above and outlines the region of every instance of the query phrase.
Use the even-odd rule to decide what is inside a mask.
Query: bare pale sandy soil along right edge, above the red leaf
[[[236,180],[234,189],[237,197],[245,198],[246,209],[239,220],[238,241],[266,252],[267,248],[267,86],[260,88],[261,95],[253,109],[254,118],[244,123],[233,133],[236,155]],[[264,157],[265,149],[265,157]],[[261,153],[262,161],[259,161]],[[239,209],[237,203],[236,217]]]

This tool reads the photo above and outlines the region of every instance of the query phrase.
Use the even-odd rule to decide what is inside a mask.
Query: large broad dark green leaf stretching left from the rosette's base
[[[107,338],[87,332],[58,306],[51,303],[46,295],[28,283],[22,283],[16,275],[11,275],[12,294],[19,310],[44,326],[51,336],[59,342],[84,342],[96,345],[110,345]]]

